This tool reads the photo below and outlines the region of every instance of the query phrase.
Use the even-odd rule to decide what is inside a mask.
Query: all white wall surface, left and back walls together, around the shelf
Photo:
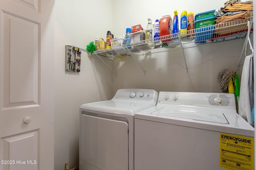
[[[189,0],[55,0],[55,170],[64,169],[65,162],[70,168],[78,163],[78,108],[81,104],[109,100],[120,88],[220,92],[218,72],[222,69],[236,71],[244,39],[185,49],[188,73],[180,50],[135,57],[146,70],[146,76],[132,57],[115,61],[102,58],[118,72],[117,77],[95,55],[89,56],[84,51],[81,72],[65,72],[65,45],[86,49],[97,34],[98,38],[106,40],[108,30],[115,37],[122,36],[126,27],[141,24],[146,28],[147,18],[156,20],[166,14],[173,18],[175,9],[180,18],[182,10],[197,14],[220,8],[224,1],[209,3],[205,0],[196,4]],[[241,70],[242,67],[239,76]]]

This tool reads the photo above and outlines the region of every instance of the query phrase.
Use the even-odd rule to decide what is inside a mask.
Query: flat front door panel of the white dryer
[[[128,123],[81,115],[81,156],[101,170],[128,170]]]

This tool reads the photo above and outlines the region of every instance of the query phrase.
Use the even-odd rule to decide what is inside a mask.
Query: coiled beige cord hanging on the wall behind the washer
[[[224,93],[228,93],[228,81],[230,76],[232,76],[232,82],[234,82],[235,74],[231,70],[224,69],[218,74],[218,81],[220,83],[219,89]]]

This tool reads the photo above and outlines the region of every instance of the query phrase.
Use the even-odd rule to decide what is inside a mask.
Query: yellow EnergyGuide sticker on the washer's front
[[[254,170],[254,138],[220,133],[220,167]]]

